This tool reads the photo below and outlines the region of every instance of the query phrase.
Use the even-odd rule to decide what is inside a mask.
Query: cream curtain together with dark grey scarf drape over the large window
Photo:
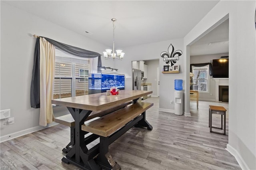
[[[42,39],[42,41],[40,41],[41,38],[44,38],[44,39]],[[46,123],[51,123],[52,119],[53,119],[52,105],[51,105],[51,101],[48,100],[48,97],[50,97],[52,99],[52,91],[50,90],[50,85],[53,86],[52,77],[54,79],[54,75],[52,76],[51,74],[54,74],[54,69],[52,69],[52,67],[54,67],[54,65],[52,66],[52,64],[49,63],[49,61],[52,62],[52,60],[55,59],[55,54],[54,55],[52,54],[52,50],[55,49],[55,46],[62,49],[63,51],[66,51],[66,52],[76,55],[78,57],[86,57],[86,58],[98,57],[98,73],[100,73],[100,71],[101,71],[100,67],[102,66],[100,53],[96,53],[93,51],[88,51],[86,49],[81,49],[78,47],[60,43],[60,42],[57,42],[50,38],[38,37],[36,39],[36,45],[35,45],[35,51],[34,51],[34,65],[33,65],[33,70],[32,70],[32,80],[31,80],[31,87],[30,87],[30,105],[31,105],[31,107],[41,108],[43,110],[41,112],[41,109],[40,109],[40,125],[42,125],[42,126],[46,126]],[[53,51],[55,52],[55,50],[53,50]],[[46,60],[45,59],[42,60],[40,55],[43,55],[43,54],[44,55],[49,54],[50,57],[45,58]],[[52,56],[54,56],[54,57],[52,58]],[[41,63],[42,61],[44,61],[44,63]],[[45,72],[45,79],[43,81],[46,84],[42,84],[40,82],[41,81],[40,80],[41,79],[40,71],[41,71],[42,67],[44,67],[46,69],[45,71],[43,71],[43,72]],[[52,73],[51,73],[51,71],[52,71]],[[50,74],[50,75],[48,75],[48,74]],[[46,76],[49,76],[49,77],[46,77]],[[52,81],[52,83],[51,83],[51,81]],[[43,87],[41,87],[41,86],[43,86]],[[45,90],[48,89],[48,90],[41,93],[40,91],[42,89],[45,89]],[[41,96],[44,94],[47,94],[48,97]],[[41,102],[42,102],[41,100],[43,100],[45,102],[45,104],[41,104]],[[51,106],[48,107],[49,105],[51,105]],[[42,107],[45,107],[45,108],[42,108]],[[48,113],[49,113],[49,115],[48,115]]]

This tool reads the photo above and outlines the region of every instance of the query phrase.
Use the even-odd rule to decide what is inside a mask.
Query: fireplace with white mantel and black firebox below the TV
[[[214,81],[215,101],[228,102],[228,78],[214,78]]]

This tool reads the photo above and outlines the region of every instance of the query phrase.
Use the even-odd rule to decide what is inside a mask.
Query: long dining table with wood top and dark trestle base
[[[53,99],[52,104],[66,106],[75,121],[75,144],[66,156],[62,158],[62,161],[67,164],[74,164],[82,169],[100,170],[101,168],[99,164],[97,164],[93,159],[100,152],[99,144],[89,150],[86,147],[87,144],[96,140],[99,136],[91,134],[85,138],[84,135],[86,133],[81,129],[81,126],[84,125],[84,121],[92,111],[111,109],[129,101],[132,101],[132,104],[134,104],[138,99],[140,99],[140,97],[151,93],[152,91],[120,90],[118,95],[96,93],[91,95]],[[144,122],[142,124],[144,127],[152,129],[152,126],[146,121],[146,115],[143,121]]]

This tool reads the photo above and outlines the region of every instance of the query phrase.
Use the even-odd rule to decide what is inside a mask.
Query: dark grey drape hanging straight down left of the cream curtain
[[[40,108],[40,38],[36,38],[34,51],[34,65],[30,86],[30,105],[34,108]]]

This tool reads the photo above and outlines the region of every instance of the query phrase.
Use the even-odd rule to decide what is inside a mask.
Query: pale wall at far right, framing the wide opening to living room
[[[256,30],[255,1],[220,1],[184,38],[189,73],[193,41],[229,18],[229,152],[243,169],[256,169]],[[246,69],[239,69],[244,66]],[[186,80],[189,79],[186,76]],[[186,91],[188,93],[188,90]],[[185,110],[189,111],[189,98]]]

